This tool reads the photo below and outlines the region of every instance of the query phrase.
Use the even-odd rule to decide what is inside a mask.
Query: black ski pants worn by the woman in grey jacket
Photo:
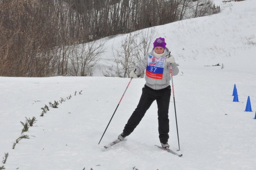
[[[156,100],[158,108],[158,132],[159,139],[161,143],[168,142],[169,139],[169,119],[168,119],[168,110],[171,97],[171,86],[168,86],[164,89],[154,90],[148,86],[142,88],[142,94],[140,97],[139,104],[137,108],[132,113],[127,124],[124,127],[124,135],[130,135],[133,130],[140,123],[140,120],[145,115],[146,111]]]

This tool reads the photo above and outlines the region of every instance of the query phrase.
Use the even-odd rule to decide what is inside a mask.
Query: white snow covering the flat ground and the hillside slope
[[[100,145],[108,121],[130,81],[117,77],[0,77],[0,167],[21,170],[256,169],[256,1],[222,6],[216,15],[156,27],[180,73],[174,77],[180,152],[158,149],[157,106],[152,104],[127,141],[108,150],[136,108],[145,84],[133,79]],[[124,35],[125,36],[125,35]],[[121,35],[108,44],[120,42]],[[111,56],[108,47],[106,56]],[[182,50],[184,49],[184,50]],[[104,58],[103,58],[104,59]],[[106,59],[106,58],[105,58]],[[99,63],[103,68],[107,65]],[[211,66],[223,63],[221,66]],[[206,66],[210,65],[210,66]],[[100,75],[101,71],[95,71]],[[236,84],[239,102],[232,102]],[[79,91],[82,95],[79,95]],[[75,96],[75,91],[77,91]],[[41,107],[72,97],[40,117]],[[244,112],[250,96],[252,111]],[[36,117],[21,139],[25,117]],[[171,149],[178,149],[171,97]]]

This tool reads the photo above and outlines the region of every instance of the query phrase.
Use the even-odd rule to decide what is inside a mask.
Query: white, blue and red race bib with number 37
[[[163,79],[164,62],[166,57],[148,56],[146,75],[152,79]]]

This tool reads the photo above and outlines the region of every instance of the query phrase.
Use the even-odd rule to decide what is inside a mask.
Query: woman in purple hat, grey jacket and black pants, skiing
[[[169,148],[168,110],[171,97],[170,66],[172,66],[173,75],[179,73],[179,68],[173,56],[170,55],[169,50],[165,47],[164,38],[157,38],[153,45],[153,50],[145,55],[129,74],[130,77],[137,78],[146,69],[146,84],[142,88],[142,94],[137,108],[132,113],[124,127],[123,133],[118,136],[118,139],[123,141],[126,136],[133,132],[150,105],[156,100],[160,143],[163,148]]]

